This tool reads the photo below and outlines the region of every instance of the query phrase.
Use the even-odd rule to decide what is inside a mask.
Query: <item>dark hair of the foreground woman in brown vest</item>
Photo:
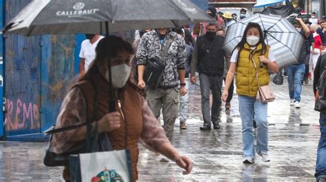
[[[107,51],[109,50],[109,51]],[[109,60],[111,57],[115,57],[118,52],[126,51],[127,53],[133,54],[133,47],[131,44],[118,36],[109,36],[107,38],[102,38],[98,45],[96,46],[95,60],[89,66],[87,73],[80,79],[85,79],[89,77],[89,73],[92,73],[97,70],[96,64],[107,65],[106,55],[109,53]]]

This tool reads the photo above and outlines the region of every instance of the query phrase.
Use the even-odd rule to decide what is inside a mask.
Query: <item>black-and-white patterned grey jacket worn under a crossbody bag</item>
[[[168,56],[163,57],[166,61],[163,79],[160,83],[161,88],[173,88],[179,84],[178,70],[183,70],[186,63],[186,44],[182,36],[173,31],[166,34],[163,46],[166,46],[166,40],[173,38]],[[160,44],[160,36],[157,31],[149,31],[140,40],[137,49],[136,58],[138,65],[146,65],[147,61],[155,55],[160,54],[162,44]]]

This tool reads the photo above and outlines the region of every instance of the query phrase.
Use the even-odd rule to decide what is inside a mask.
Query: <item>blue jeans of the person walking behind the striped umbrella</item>
[[[290,99],[301,101],[301,90],[303,76],[305,75],[305,64],[291,65],[285,68],[287,82],[289,84]]]

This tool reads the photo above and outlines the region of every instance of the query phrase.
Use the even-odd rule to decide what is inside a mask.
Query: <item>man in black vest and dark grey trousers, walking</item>
[[[224,37],[216,34],[217,23],[208,23],[206,29],[206,34],[197,38],[193,60],[191,61],[191,83],[196,82],[196,68],[199,73],[204,118],[204,125],[199,128],[201,130],[210,130],[212,122],[214,129],[219,129],[219,107],[221,107],[221,87],[225,60],[225,52],[222,49]],[[213,94],[211,116],[210,90]]]

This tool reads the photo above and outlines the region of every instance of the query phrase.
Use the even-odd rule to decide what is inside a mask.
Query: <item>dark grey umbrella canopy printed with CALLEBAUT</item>
[[[182,27],[213,21],[189,0],[34,0],[4,32],[38,34],[109,33],[144,28]]]

